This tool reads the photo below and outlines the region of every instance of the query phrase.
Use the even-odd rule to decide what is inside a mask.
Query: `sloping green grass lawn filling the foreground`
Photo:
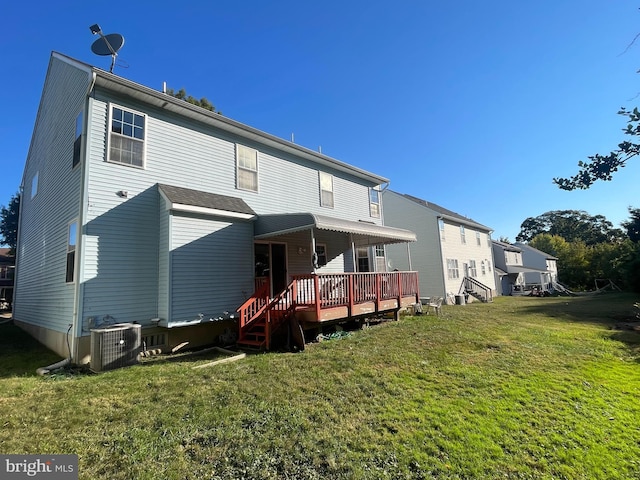
[[[638,296],[501,297],[303,353],[53,375],[0,325],[0,451],[83,479],[640,478]]]

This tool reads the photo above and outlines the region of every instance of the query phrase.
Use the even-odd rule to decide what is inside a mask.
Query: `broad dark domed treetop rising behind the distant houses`
[[[520,225],[516,240],[529,242],[541,233],[558,235],[567,242],[582,241],[586,245],[625,238],[624,232],[614,228],[602,215],[592,216],[583,210],[554,210],[527,218]]]

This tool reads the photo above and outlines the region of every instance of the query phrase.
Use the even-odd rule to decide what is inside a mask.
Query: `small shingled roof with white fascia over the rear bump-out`
[[[170,203],[172,210],[245,219],[254,218],[256,215],[256,212],[241,198],[160,183],[158,190]]]

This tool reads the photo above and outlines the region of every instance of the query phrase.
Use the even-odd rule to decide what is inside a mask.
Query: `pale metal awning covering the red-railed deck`
[[[355,245],[416,241],[416,234],[410,230],[385,227],[363,221],[354,222],[313,213],[260,215],[254,226],[255,238],[257,239],[312,229],[351,234]]]

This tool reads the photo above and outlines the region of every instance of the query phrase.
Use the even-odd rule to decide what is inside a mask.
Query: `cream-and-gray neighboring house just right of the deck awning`
[[[382,193],[385,224],[415,231],[417,241],[387,247],[391,268],[416,270],[421,296],[495,294],[491,229],[435,203],[392,190]],[[407,250],[410,255],[407,255]]]

